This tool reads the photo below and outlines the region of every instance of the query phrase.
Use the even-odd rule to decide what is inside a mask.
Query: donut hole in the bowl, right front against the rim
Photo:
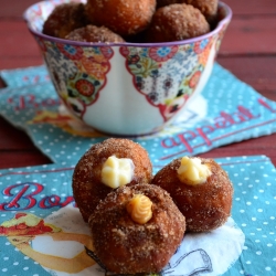
[[[147,30],[148,42],[172,42],[203,35],[210,25],[194,7],[174,3],[159,8]]]

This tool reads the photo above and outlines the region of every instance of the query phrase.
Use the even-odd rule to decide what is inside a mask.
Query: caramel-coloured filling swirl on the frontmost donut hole
[[[136,194],[127,204],[127,212],[132,221],[145,224],[152,217],[152,202],[144,194]]]

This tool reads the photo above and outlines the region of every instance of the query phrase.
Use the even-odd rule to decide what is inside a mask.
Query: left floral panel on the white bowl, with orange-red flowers
[[[63,103],[77,117],[104,88],[114,51],[109,46],[82,47],[39,39],[53,84]]]

